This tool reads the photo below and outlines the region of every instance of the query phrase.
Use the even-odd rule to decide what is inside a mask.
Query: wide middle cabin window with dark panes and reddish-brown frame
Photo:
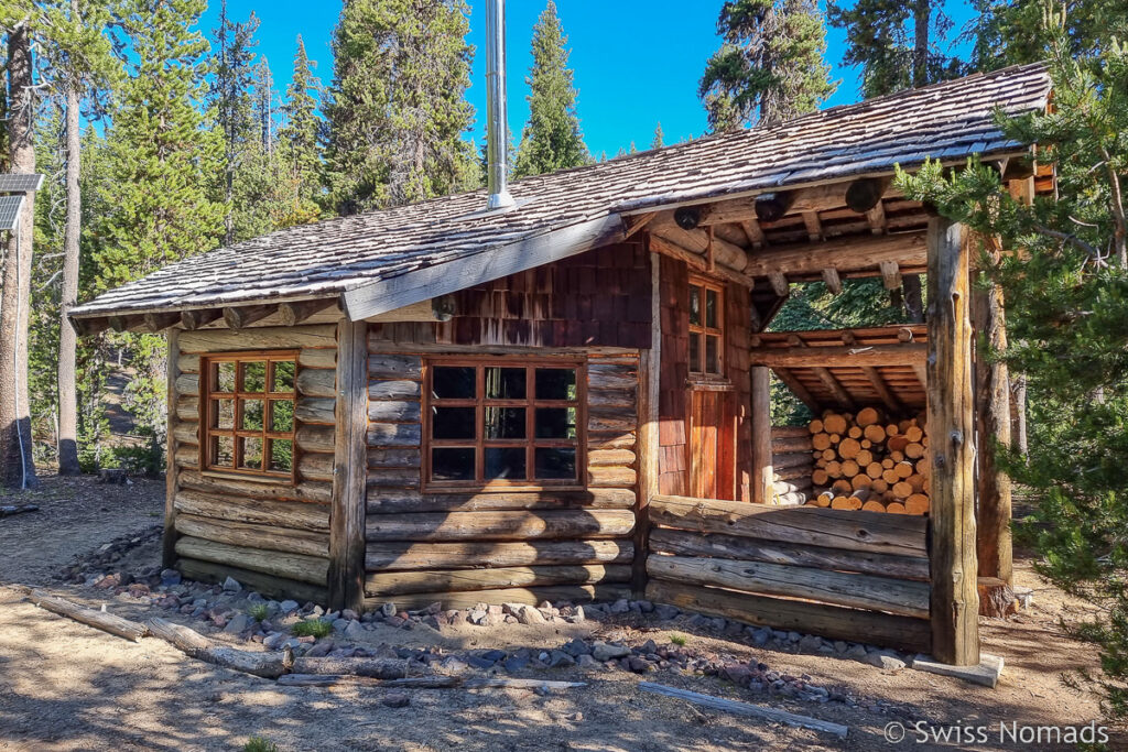
[[[433,360],[424,431],[429,485],[575,485],[583,366]]]

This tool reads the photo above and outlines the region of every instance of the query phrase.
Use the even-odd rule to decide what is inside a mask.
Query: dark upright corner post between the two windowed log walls
[[[364,476],[368,460],[368,325],[344,320],[337,336],[337,419],[329,512],[329,607],[364,607]]]

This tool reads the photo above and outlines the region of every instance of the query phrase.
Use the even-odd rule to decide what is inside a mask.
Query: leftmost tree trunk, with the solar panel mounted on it
[[[35,172],[32,39],[27,21],[8,34],[8,134],[14,172]],[[32,298],[35,195],[27,194],[16,231],[9,233],[0,299],[0,484],[38,484],[32,460],[27,391],[27,321]]]

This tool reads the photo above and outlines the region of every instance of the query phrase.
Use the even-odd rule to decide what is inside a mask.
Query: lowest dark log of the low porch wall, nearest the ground
[[[920,653],[929,653],[932,648],[928,622],[924,619],[749,595],[664,580],[650,581],[646,586],[646,598],[654,603],[669,603],[689,611],[721,616],[744,623],[822,635],[830,639],[884,645]]]

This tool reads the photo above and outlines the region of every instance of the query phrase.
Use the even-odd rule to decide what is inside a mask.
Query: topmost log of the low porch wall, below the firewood
[[[925,551],[925,520],[880,512],[854,512],[801,506],[779,508],[740,502],[656,496],[651,520],[660,525],[808,543],[874,554],[920,556]]]

